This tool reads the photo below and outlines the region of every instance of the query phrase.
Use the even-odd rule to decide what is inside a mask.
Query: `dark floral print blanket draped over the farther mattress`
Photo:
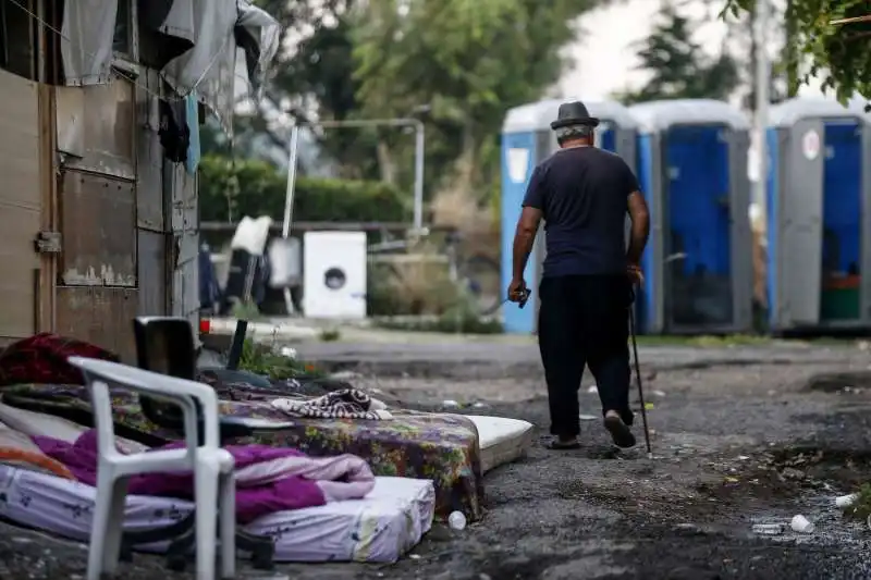
[[[293,418],[269,404],[274,396],[274,393],[262,396],[254,393],[247,400],[222,399],[223,416],[293,423],[278,430],[258,429],[253,436],[237,437],[226,444],[290,447],[311,456],[356,455],[369,462],[376,476],[432,480],[438,517],[446,518],[458,509],[471,521],[481,518],[483,483],[478,431],[469,419],[393,409],[390,421]],[[2,402],[89,425],[90,399],[84,386],[14,385],[2,390]],[[113,388],[112,408],[121,436],[148,445],[181,436],[146,419],[138,397],[130,391]]]

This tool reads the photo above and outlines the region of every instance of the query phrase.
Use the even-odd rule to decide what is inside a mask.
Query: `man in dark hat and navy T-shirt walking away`
[[[578,388],[585,365],[599,387],[604,427],[619,447],[629,429],[628,309],[650,231],[647,203],[623,159],[593,146],[599,120],[582,102],[551,123],[560,150],[533,171],[514,237],[508,298],[526,293],[524,269],[544,219],[547,258],[539,287],[538,341],[548,382],[553,449],[578,448]],[[626,246],[626,213],[631,236]]]

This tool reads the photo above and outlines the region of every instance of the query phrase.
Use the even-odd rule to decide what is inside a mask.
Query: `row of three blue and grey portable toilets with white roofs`
[[[550,123],[564,100],[508,111],[502,134],[502,276],[512,275],[514,226],[535,165],[556,148]],[[770,109],[764,200],[766,311],[772,332],[871,328],[871,114],[794,99]],[[624,107],[586,102],[601,119],[597,145],[635,170],[650,207],[639,332],[753,330],[750,123],[714,100]],[[758,201],[758,200],[757,200]],[[526,271],[538,281],[545,229]],[[537,296],[537,284],[532,285]],[[503,291],[504,292],[504,291]],[[537,303],[537,300],[536,300]],[[504,309],[505,330],[536,331],[538,308]]]

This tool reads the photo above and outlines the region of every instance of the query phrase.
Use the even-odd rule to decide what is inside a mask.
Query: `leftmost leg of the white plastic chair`
[[[116,478],[111,467],[100,466],[88,548],[88,580],[100,580],[103,572],[118,569],[126,495],[126,478]]]

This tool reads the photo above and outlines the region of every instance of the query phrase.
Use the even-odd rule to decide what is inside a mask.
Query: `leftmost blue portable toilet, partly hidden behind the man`
[[[560,104],[575,98],[550,99],[511,109],[502,125],[502,298],[512,277],[514,230],[520,217],[529,177],[538,163],[553,153],[559,145],[551,131]],[[582,99],[581,99],[582,100]],[[613,101],[584,101],[590,115],[601,122],[597,127],[597,146],[613,151],[635,166],[636,122],[626,107]],[[539,229],[536,245],[526,266],[526,282],[532,296],[525,309],[506,304],[503,308],[505,332],[528,334],[538,324],[538,282],[544,261],[544,232]],[[530,306],[535,305],[535,308]]]

